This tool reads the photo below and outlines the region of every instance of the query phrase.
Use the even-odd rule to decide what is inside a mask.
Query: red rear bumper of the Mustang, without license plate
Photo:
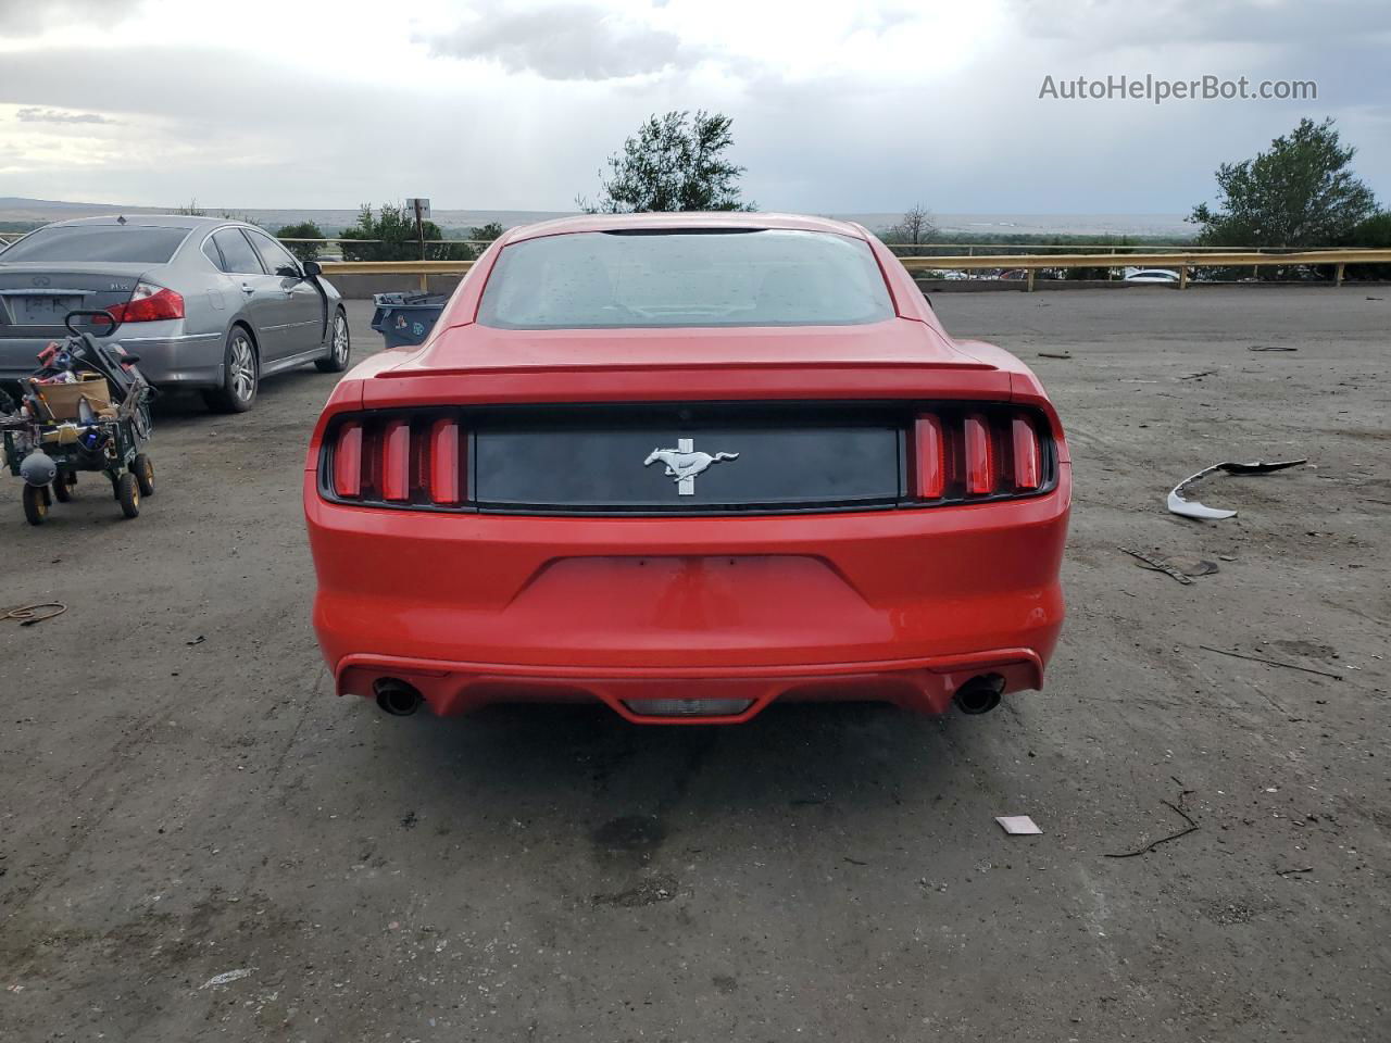
[[[305,476],[314,629],[341,694],[499,701],[883,700],[943,712],[978,674],[1038,688],[1063,623],[1070,473],[1043,496],[764,517],[374,510]]]

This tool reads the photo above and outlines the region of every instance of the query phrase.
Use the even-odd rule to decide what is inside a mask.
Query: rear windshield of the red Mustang
[[[577,232],[504,248],[483,325],[850,325],[893,316],[869,245],[828,232]]]

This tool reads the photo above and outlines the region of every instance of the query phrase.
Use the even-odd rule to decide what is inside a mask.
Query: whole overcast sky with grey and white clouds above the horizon
[[[1388,54],[1385,0],[0,0],[0,196],[568,210],[708,108],[764,209],[1182,213],[1302,115],[1391,203]],[[1121,74],[1319,97],[1039,99]]]

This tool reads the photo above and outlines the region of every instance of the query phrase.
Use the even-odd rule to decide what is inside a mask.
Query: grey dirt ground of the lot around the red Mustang
[[[0,622],[0,1039],[1387,1040],[1391,293],[935,305],[1036,369],[1075,460],[1047,690],[985,718],[335,698],[312,370],[166,405],[135,522],[85,483],[31,528],[0,483],[0,605],[70,606]],[[1164,510],[1291,456],[1203,484],[1235,519]]]

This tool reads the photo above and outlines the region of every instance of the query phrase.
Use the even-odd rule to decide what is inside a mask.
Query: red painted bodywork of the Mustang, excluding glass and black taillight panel
[[[748,221],[868,238],[899,318],[867,327],[502,331],[473,324],[506,242],[605,228],[572,218],[509,232],[474,266],[424,346],[367,360],[335,389],[306,458],[319,576],[314,627],[338,691],[381,677],[437,713],[490,701],[875,698],[943,712],[963,683],[1042,686],[1063,623],[1059,567],[1071,473],[1032,373],[957,343],[911,278],[854,225]],[[801,221],[801,224],[798,224]],[[593,225],[590,228],[588,225]],[[1057,484],[1014,501],[776,516],[523,517],[383,510],[321,498],[330,419],[376,407],[670,401],[981,399],[1047,417]]]

